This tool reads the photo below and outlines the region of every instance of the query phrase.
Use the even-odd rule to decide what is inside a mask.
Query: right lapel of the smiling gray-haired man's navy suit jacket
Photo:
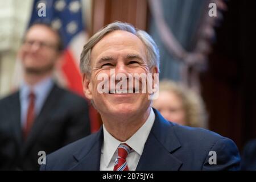
[[[166,121],[155,109],[154,112],[155,122],[136,170],[179,170],[182,162],[172,153],[181,145],[172,123]]]

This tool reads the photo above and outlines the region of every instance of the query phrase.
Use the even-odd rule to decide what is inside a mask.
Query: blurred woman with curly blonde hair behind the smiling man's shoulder
[[[207,128],[207,113],[201,96],[176,82],[159,82],[159,97],[154,100],[153,107],[168,121]]]

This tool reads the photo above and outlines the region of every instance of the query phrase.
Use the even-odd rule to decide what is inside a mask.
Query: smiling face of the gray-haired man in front
[[[146,49],[142,41],[126,31],[113,31],[100,40],[93,48],[90,57],[92,75],[84,75],[85,95],[93,100],[101,114],[126,115],[144,113],[150,107],[148,93],[99,93],[97,85],[101,73],[107,74],[110,82],[110,69],[115,75],[123,73],[156,73],[156,68],[149,68]],[[128,78],[128,76],[127,76]],[[115,81],[115,85],[118,81]],[[141,85],[141,83],[140,83]],[[131,88],[127,81],[127,86]]]

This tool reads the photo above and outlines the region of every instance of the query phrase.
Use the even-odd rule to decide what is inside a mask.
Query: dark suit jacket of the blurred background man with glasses
[[[0,100],[0,169],[38,170],[39,151],[49,154],[89,134],[87,102],[55,84],[24,141],[16,92]]]

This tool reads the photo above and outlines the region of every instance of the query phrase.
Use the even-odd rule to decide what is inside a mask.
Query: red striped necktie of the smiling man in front
[[[114,171],[129,171],[126,163],[126,157],[131,152],[131,147],[126,143],[121,143],[118,146],[118,157],[115,159]]]

